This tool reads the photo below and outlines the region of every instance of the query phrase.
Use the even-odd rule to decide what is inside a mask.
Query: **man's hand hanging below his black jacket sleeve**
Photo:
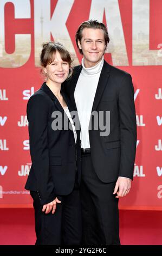
[[[129,193],[130,189],[131,189],[131,180],[127,178],[119,177],[118,180],[116,181],[113,194],[116,193],[118,195],[116,196],[116,198],[124,197],[126,196],[126,194]]]

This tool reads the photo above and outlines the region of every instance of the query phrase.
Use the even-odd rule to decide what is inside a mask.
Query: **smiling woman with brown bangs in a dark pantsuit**
[[[32,166],[25,188],[34,200],[36,245],[79,245],[81,240],[80,139],[70,116],[73,108],[61,92],[71,64],[61,44],[43,44],[47,81],[27,105]]]

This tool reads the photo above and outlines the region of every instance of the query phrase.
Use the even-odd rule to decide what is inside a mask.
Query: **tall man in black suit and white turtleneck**
[[[83,54],[64,84],[79,114],[82,148],[83,245],[120,245],[118,200],[129,193],[137,140],[131,75],[103,60],[109,42],[106,26],[83,22],[76,44]],[[110,113],[109,133],[96,129],[93,113]],[[96,120],[96,119],[95,119]],[[95,126],[95,128],[94,128]],[[108,127],[106,127],[108,129]]]

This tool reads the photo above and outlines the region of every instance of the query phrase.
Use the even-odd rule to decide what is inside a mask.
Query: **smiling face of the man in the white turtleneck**
[[[95,66],[100,62],[105,52],[103,30],[99,28],[84,28],[81,42],[78,41],[78,45],[83,52],[85,67],[90,68]]]

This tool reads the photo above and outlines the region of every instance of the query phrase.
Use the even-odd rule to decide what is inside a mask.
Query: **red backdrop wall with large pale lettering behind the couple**
[[[162,209],[162,1],[1,0],[0,207],[31,206],[24,190],[31,166],[26,106],[43,82],[41,44],[62,42],[81,62],[75,32],[82,21],[106,23],[105,59],[129,72],[135,89],[137,156],[131,192],[121,209]]]

